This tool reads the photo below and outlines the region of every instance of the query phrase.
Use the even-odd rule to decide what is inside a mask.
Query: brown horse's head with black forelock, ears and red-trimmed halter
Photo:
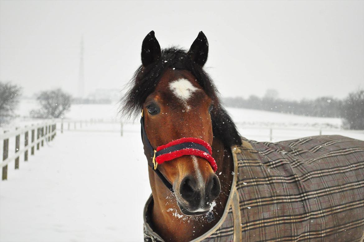
[[[142,111],[153,197],[169,196],[172,191],[182,213],[191,216],[211,211],[221,191],[211,150],[214,139],[218,137],[227,147],[240,142],[213,82],[203,71],[208,50],[202,31],[188,51],[161,50],[151,31],[143,40],[142,66],[134,74],[123,106],[130,114]]]

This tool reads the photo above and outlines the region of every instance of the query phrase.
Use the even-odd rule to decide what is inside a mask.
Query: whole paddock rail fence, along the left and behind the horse
[[[270,126],[248,126],[237,123],[240,134],[248,139],[257,141],[281,141],[307,136],[339,134],[359,140],[364,140],[364,130],[344,129],[321,129],[302,127],[270,127]],[[11,131],[0,133],[0,155],[2,155],[1,168],[2,179],[7,179],[8,164],[15,161],[15,169],[19,169],[19,160],[24,153],[24,161],[28,161],[28,150],[34,155],[35,149],[43,147],[44,141],[51,141],[56,135],[56,128],[63,132],[115,132],[119,135],[139,135],[140,123],[117,122],[115,120],[67,120],[55,119],[41,124],[25,126]],[[137,134],[138,133],[138,134]],[[20,145],[22,144],[22,145]],[[22,147],[21,147],[22,146]],[[11,148],[11,149],[9,149]]]

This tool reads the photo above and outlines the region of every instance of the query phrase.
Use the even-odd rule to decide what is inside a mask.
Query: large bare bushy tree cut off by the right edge
[[[357,90],[344,99],[342,117],[350,129],[364,129],[364,90]]]

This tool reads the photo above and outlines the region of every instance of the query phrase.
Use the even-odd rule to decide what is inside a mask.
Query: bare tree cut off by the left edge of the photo
[[[19,104],[21,87],[10,82],[0,82],[0,124],[15,117],[14,110]]]

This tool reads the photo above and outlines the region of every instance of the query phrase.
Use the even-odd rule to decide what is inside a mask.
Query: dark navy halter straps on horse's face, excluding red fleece
[[[168,148],[165,148],[165,149],[162,149],[162,150],[160,150],[158,152],[154,152],[155,149],[150,144],[149,139],[148,139],[148,136],[147,136],[147,133],[145,132],[143,113],[142,113],[142,117],[140,119],[140,124],[141,124],[142,142],[145,145],[145,147],[147,147],[147,149],[149,150],[149,153],[150,153],[150,156],[151,157],[154,157],[154,155],[155,155],[155,157],[158,157],[158,156],[163,155],[163,154],[166,154],[166,153],[171,153],[171,152],[179,151],[179,150],[186,149],[186,148],[198,149],[200,151],[203,151],[203,152],[206,152],[206,153],[210,154],[210,152],[203,145],[197,144],[197,143],[193,143],[193,142],[185,142],[185,143],[181,143],[181,144],[172,145],[172,146],[170,146]],[[143,139],[143,137],[144,137],[144,139]],[[156,167],[156,169],[154,169],[154,164],[153,163],[151,163],[149,166],[152,168],[152,170],[155,173],[157,173],[157,175],[162,180],[162,182],[166,185],[166,187],[171,192],[174,193],[172,184],[166,179],[165,176],[163,176],[163,174],[161,173],[161,171],[159,171],[158,167]]]

